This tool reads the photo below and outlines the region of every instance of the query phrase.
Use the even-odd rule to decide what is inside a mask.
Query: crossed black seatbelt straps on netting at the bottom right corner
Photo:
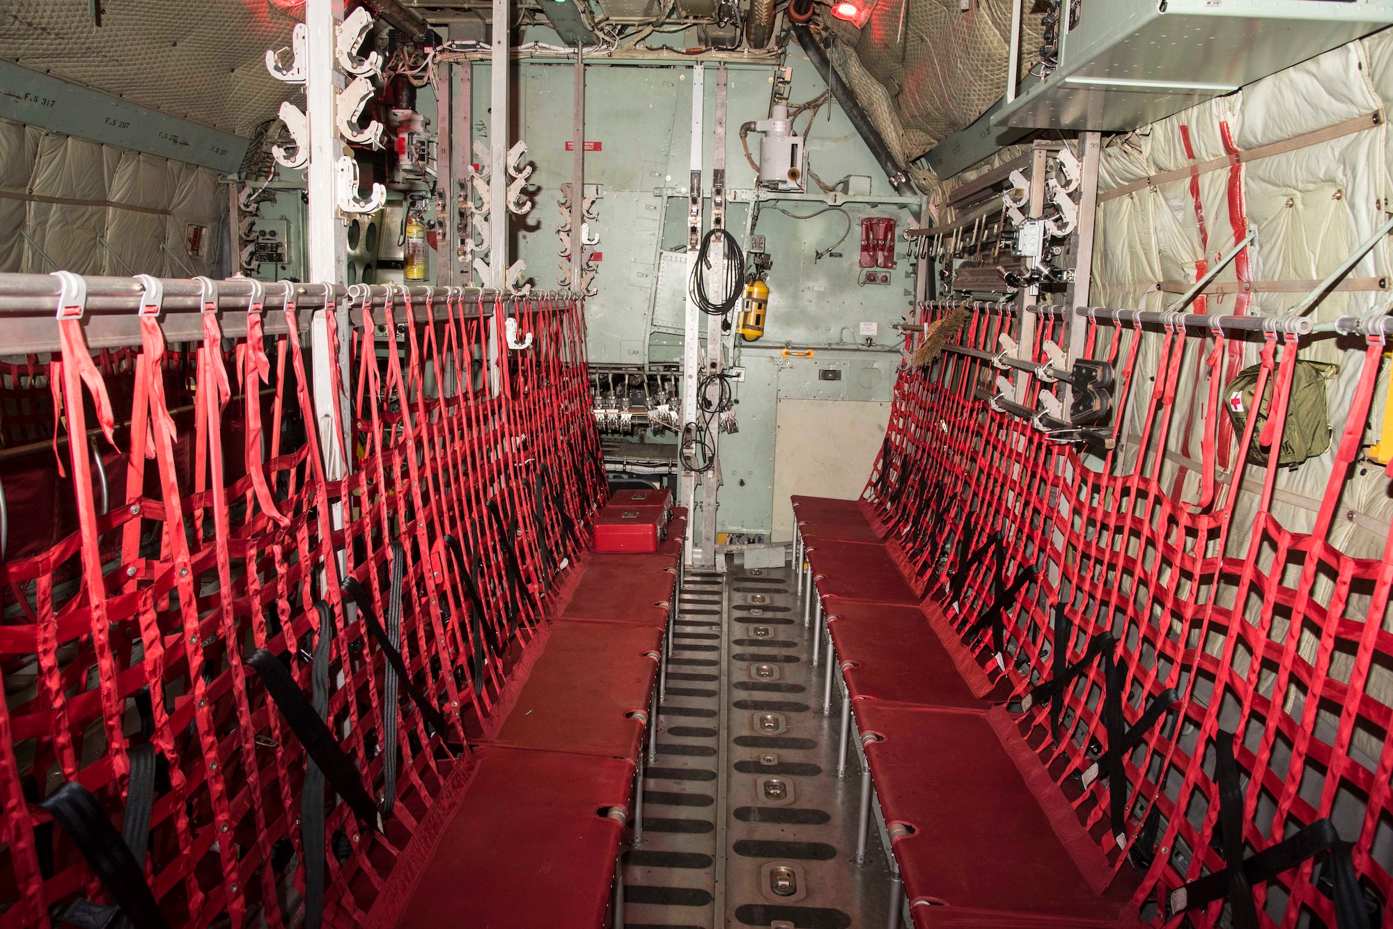
[[[1284,871],[1291,871],[1307,858],[1314,858],[1321,853],[1326,854],[1322,879],[1318,886],[1325,884],[1325,876],[1330,878],[1330,889],[1326,891],[1334,901],[1334,925],[1337,929],[1369,929],[1373,919],[1379,918],[1378,904],[1369,901],[1360,887],[1358,872],[1350,855],[1353,846],[1340,841],[1334,825],[1329,819],[1316,819],[1309,826],[1294,833],[1286,841],[1270,846],[1256,853],[1251,858],[1243,857],[1243,787],[1238,782],[1237,764],[1233,758],[1233,733],[1220,730],[1215,741],[1215,779],[1219,782],[1219,829],[1223,830],[1223,855],[1226,868],[1215,873],[1198,878],[1184,887],[1177,887],[1170,893],[1170,915],[1177,916],[1187,910],[1206,907],[1215,900],[1227,898],[1233,912],[1234,929],[1243,929],[1240,912],[1251,914],[1256,926],[1256,914],[1252,903],[1252,886],[1266,883]],[[1227,754],[1227,761],[1224,755]],[[1227,784],[1227,789],[1226,789]],[[1236,812],[1226,815],[1224,805]],[[1230,829],[1230,818],[1234,826]],[[1237,836],[1237,857],[1230,858],[1230,836]],[[1237,875],[1237,880],[1234,876]],[[1322,887],[1323,889],[1323,887]],[[1243,894],[1247,893],[1247,905]],[[1236,900],[1236,894],[1238,898]],[[1375,911],[1371,916],[1369,908]]]

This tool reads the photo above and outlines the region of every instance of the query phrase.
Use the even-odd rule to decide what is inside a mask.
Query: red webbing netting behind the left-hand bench
[[[364,922],[603,501],[581,303],[358,286],[340,331],[267,285],[228,349],[215,286],[196,346],[148,289],[142,345],[89,352],[77,300],[0,371],[6,446],[45,444],[0,471],[0,928]],[[124,823],[148,889],[81,822]]]

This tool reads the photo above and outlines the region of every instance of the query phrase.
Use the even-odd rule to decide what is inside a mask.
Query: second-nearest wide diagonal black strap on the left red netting
[[[315,690],[319,690],[319,674],[323,674],[323,688],[325,688],[325,708],[327,711],[329,700],[329,641],[333,637],[333,619],[327,622],[323,613],[327,606],[320,606],[320,637],[315,647]],[[326,631],[327,630],[327,634]],[[325,655],[326,661],[318,661],[320,654]],[[301,693],[299,686],[286,670],[286,666],[280,663],[280,659],[272,655],[265,648],[258,648],[247,659],[247,663],[260,676],[262,683],[266,686],[266,693],[270,698],[276,701],[276,708],[280,709],[280,715],[286,719],[291,732],[299,740],[299,744],[305,747],[305,752],[309,755],[311,761],[319,766],[329,783],[333,784],[334,790],[348,804],[354,815],[368,827],[369,832],[376,832],[380,829],[380,821],[378,816],[378,804],[372,800],[372,794],[368,793],[366,787],[362,784],[362,775],[358,772],[358,766],[344,754],[344,750],[338,747],[338,740],[329,730],[325,723],[325,716],[315,711],[313,706],[305,700],[305,694]],[[316,693],[318,697],[318,693]]]

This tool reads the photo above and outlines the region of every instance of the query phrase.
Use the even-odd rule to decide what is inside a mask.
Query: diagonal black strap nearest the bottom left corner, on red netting
[[[152,765],[153,766],[153,765]],[[169,929],[145,868],[107,819],[96,797],[79,783],[65,780],[39,804],[63,826],[88,866],[116,900],[135,929]],[[148,826],[146,826],[148,829]]]

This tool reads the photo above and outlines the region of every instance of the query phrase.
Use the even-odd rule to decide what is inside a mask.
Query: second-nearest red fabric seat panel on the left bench
[[[556,620],[495,744],[638,761],[663,630]],[[645,652],[652,652],[649,656]]]

